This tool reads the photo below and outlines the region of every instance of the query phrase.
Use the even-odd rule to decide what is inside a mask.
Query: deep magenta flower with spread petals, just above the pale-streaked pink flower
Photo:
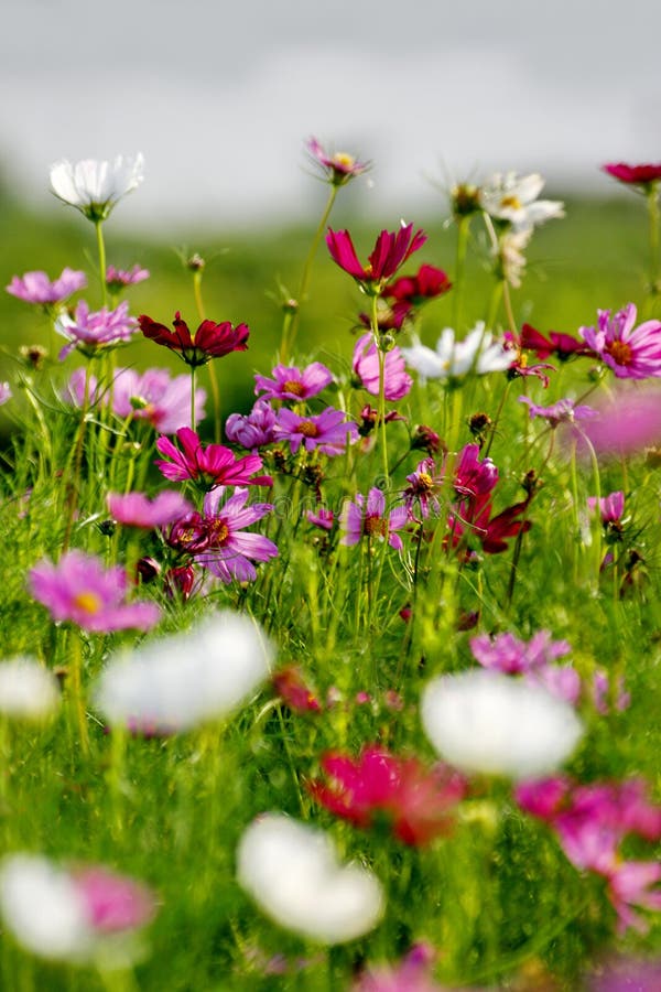
[[[155,463],[165,478],[173,482],[192,479],[204,489],[216,486],[270,486],[273,483],[270,475],[254,475],[262,467],[259,455],[237,459],[223,444],[207,444],[205,448],[191,428],[180,428],[176,438],[181,451],[169,438],[156,441],[159,453],[167,460]]]

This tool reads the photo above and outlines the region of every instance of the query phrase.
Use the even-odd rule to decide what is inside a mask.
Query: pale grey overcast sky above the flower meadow
[[[300,216],[303,142],[373,161],[366,209],[540,171],[610,191],[661,160],[661,3],[629,0],[3,0],[0,159],[33,202],[50,164],[142,151],[126,223]]]

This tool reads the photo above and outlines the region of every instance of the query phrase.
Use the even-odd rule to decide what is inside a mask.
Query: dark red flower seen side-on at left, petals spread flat
[[[210,358],[223,358],[230,352],[245,352],[250,334],[247,324],[237,324],[232,327],[229,321],[223,321],[220,324],[203,321],[194,336],[191,336],[188,325],[182,321],[178,310],[172,323],[174,331],[170,331],[164,324],[158,324],[145,314],[138,317],[138,323],[145,337],[176,352],[186,365],[194,368],[206,365]]]

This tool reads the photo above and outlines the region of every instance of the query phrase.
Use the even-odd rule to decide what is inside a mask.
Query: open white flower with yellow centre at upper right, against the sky
[[[480,187],[479,205],[499,220],[509,220],[517,229],[535,227],[552,217],[564,217],[560,201],[538,200],[544,180],[539,173],[518,175],[516,172],[495,173]]]

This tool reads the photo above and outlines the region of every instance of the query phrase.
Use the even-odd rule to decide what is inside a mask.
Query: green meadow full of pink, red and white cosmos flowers
[[[651,992],[661,169],[311,153],[259,234],[0,190],[0,988]]]

